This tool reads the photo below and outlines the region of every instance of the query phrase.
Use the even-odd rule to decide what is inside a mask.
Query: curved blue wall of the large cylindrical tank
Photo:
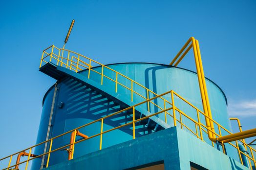
[[[162,94],[166,91],[174,90],[186,100],[194,104],[196,107],[203,110],[197,75],[191,71],[165,65],[146,63],[113,64],[108,65],[108,67],[121,72],[122,74],[128,76],[141,85],[145,85],[157,94]],[[99,72],[101,72],[101,68],[95,68],[95,70],[97,69]],[[105,69],[104,73],[115,80],[116,75],[112,71]],[[87,77],[88,70],[82,71],[80,74]],[[91,71],[90,79],[100,83],[101,76]],[[122,77],[118,77],[118,81],[130,87],[130,81]],[[215,84],[213,84],[213,82],[209,80],[206,81],[206,84],[213,113],[213,119],[231,131],[231,125],[227,113],[226,99],[223,92],[219,89],[219,87],[217,87]],[[109,91],[115,90],[115,88],[113,88],[115,87],[114,82],[107,80],[107,78],[104,78],[103,85],[109,87],[107,88]],[[71,78],[66,78],[59,82],[58,86],[59,89],[57,90],[54,106],[51,137],[58,136],[78,126],[84,125],[90,121],[99,119],[120,110],[120,106],[113,101],[109,101],[106,97],[101,96],[94,90],[86,87],[81,83],[78,83]],[[140,91],[141,94],[146,95],[145,89],[142,89],[139,86],[134,86],[134,89]],[[45,140],[46,137],[53,92],[54,88],[52,88],[46,94],[44,99],[43,113],[37,143]],[[118,85],[118,94],[121,94],[122,97],[130,99],[130,91],[126,88],[122,88],[121,85]],[[136,103],[142,102],[143,100],[142,98],[136,97],[136,95],[134,95],[133,101]],[[64,103],[62,107],[58,106],[60,102]],[[192,118],[196,119],[196,113],[194,110],[187,104],[184,104],[184,102],[178,100],[178,98],[175,98],[175,105],[190,115]],[[157,110],[157,108],[151,108],[151,112]],[[164,115],[160,115],[159,118],[164,119]],[[119,118],[110,119],[104,122],[104,130],[109,129],[110,127],[116,127],[117,125],[124,123],[126,119],[129,118],[125,114],[121,115]],[[171,120],[172,119],[170,117],[168,122],[171,122]],[[186,123],[186,120],[184,120],[184,122]],[[100,124],[100,122],[97,122],[82,129],[81,132],[87,136],[95,135],[100,132]],[[129,128],[130,127],[125,127],[123,129],[115,130],[109,134],[107,133],[104,135],[103,138],[108,140],[103,140],[103,148],[132,139],[132,131]],[[138,137],[140,135],[149,133],[146,131],[147,130],[143,129],[142,127],[143,133],[138,133],[136,136]],[[206,139],[207,137],[204,136],[204,138]],[[53,149],[63,146],[63,144],[68,144],[69,141],[70,135],[56,139],[53,142]],[[89,139],[83,142],[83,144],[76,145],[74,157],[78,157],[86,153],[91,153],[96,150],[99,150],[99,136]],[[38,149],[36,154],[42,153],[42,151],[43,148]],[[62,162],[64,160],[67,160],[66,151],[51,153],[50,165]],[[38,163],[33,163],[33,168],[36,166],[38,166]]]

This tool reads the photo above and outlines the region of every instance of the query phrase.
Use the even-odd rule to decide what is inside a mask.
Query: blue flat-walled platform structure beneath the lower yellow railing
[[[190,161],[208,170],[249,170],[178,127],[64,161],[46,170],[126,170],[152,162],[163,162],[165,170],[191,170]]]

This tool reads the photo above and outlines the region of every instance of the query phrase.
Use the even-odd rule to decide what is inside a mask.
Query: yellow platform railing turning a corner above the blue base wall
[[[135,117],[135,109],[136,107],[140,106],[140,105],[143,105],[143,104],[147,104],[149,101],[154,101],[155,99],[158,99],[160,97],[165,97],[165,96],[170,96],[171,95],[171,102],[168,102],[168,104],[165,105],[165,108],[162,108],[160,111],[158,112],[155,112],[155,113],[151,113],[150,115],[148,116],[145,116],[143,118],[139,118],[139,119],[136,119]],[[176,100],[182,100],[184,102],[186,102],[188,105],[190,105],[195,111],[196,111],[196,114],[195,115],[192,115],[192,116],[195,116],[196,119],[193,119],[192,116],[189,116],[187,115],[186,113],[184,113],[182,110],[180,110],[179,108],[176,107],[175,105],[175,101]],[[169,104],[171,103],[171,104]],[[132,120],[126,122],[125,124],[120,124],[119,126],[117,127],[113,127],[111,129],[107,129],[107,130],[104,130],[104,121],[106,119],[110,119],[111,117],[117,115],[117,114],[122,114],[124,113],[125,111],[128,111],[128,110],[132,110]],[[172,112],[170,112],[172,110]],[[100,141],[99,141],[99,150],[102,149],[102,143],[103,143],[103,135],[104,134],[107,134],[108,132],[111,132],[113,130],[116,130],[116,129],[120,129],[122,127],[125,127],[125,126],[129,126],[129,125],[132,125],[131,127],[131,131],[132,131],[132,138],[134,139],[136,137],[136,129],[135,129],[135,124],[136,123],[139,123],[140,121],[144,120],[144,119],[149,119],[150,117],[152,116],[156,116],[156,115],[160,115],[160,114],[167,114],[168,116],[171,117],[171,120],[172,120],[172,123],[174,124],[174,126],[178,126],[180,127],[181,129],[184,129],[184,130],[187,130],[188,132],[190,132],[192,135],[196,136],[198,139],[200,140],[203,140],[203,141],[207,141],[206,139],[208,139],[208,137],[205,139],[203,137],[203,134],[207,134],[208,131],[211,131],[212,133],[214,133],[214,135],[216,136],[222,136],[222,134],[224,133],[228,133],[228,134],[232,134],[230,131],[228,131],[225,127],[223,127],[222,125],[220,125],[219,123],[217,123],[215,120],[213,120],[212,118],[210,118],[208,115],[206,115],[204,112],[202,112],[200,109],[198,109],[197,107],[195,107],[192,103],[188,102],[187,100],[185,100],[183,97],[181,97],[179,94],[177,94],[176,92],[174,91],[168,91],[166,93],[163,93],[161,95],[158,95],[158,96],[155,96],[153,98],[150,98],[144,102],[140,102],[138,104],[135,104],[133,106],[130,106],[130,107],[127,107],[123,110],[120,110],[118,112],[115,112],[111,115],[108,115],[106,117],[103,117],[103,118],[100,118],[100,119],[97,119],[97,120],[94,120],[94,121],[91,121],[83,126],[80,126],[78,128],[75,128],[71,131],[68,131],[64,134],[61,134],[59,136],[55,136],[49,140],[46,140],[46,141],[43,141],[37,145],[34,145],[32,147],[29,147],[27,149],[24,149],[20,152],[17,152],[17,153],[14,153],[14,154],[11,154],[9,156],[6,156],[2,159],[0,159],[0,163],[3,161],[3,160],[9,160],[8,161],[8,167],[7,168],[4,168],[2,170],[9,170],[9,168],[13,168],[13,167],[17,167],[21,164],[25,164],[25,170],[27,170],[27,167],[28,167],[28,163],[31,161],[31,160],[34,160],[34,159],[37,159],[37,158],[41,158],[43,155],[46,155],[47,156],[47,161],[46,161],[46,167],[49,166],[49,161],[50,161],[50,155],[51,153],[54,153],[56,151],[60,151],[60,150],[63,150],[69,146],[73,146],[72,148],[72,157],[71,159],[73,159],[73,155],[75,153],[75,145],[80,143],[80,142],[83,142],[85,140],[89,140],[91,138],[94,138],[96,136],[100,136]],[[207,127],[206,123],[204,121],[201,120],[201,117],[207,117],[208,119],[211,119],[211,121],[213,121],[214,125],[217,126],[217,129],[218,129],[218,132],[217,131],[212,131],[211,128]],[[72,132],[77,132],[78,130],[81,130],[83,131],[83,128],[86,127],[86,126],[89,126],[93,123],[101,123],[101,128],[100,128],[100,133],[98,134],[95,134],[95,135],[92,135],[92,136],[88,136],[87,138],[83,138],[82,140],[78,140],[76,141],[75,138],[69,143],[69,144],[66,144],[59,148],[52,148],[53,146],[53,143],[56,139],[60,138],[60,137],[64,137],[64,136],[69,136],[71,135]],[[86,135],[86,134],[85,134]],[[207,134],[208,135],[208,134]],[[114,139],[106,139],[106,140],[114,140]],[[35,157],[27,157],[26,160],[20,162],[20,163],[16,163],[15,165],[11,165],[11,162],[12,162],[12,159],[13,157],[17,156],[19,153],[22,153],[22,152],[26,152],[28,151],[29,153],[31,153],[31,151],[34,151],[35,147],[39,147],[40,145],[43,145],[44,143],[50,143],[49,147],[48,147],[48,151],[46,153],[42,153],[40,155],[36,155]],[[242,143],[245,147],[247,147],[247,153],[244,153],[243,151],[241,151],[239,149],[239,146],[238,146],[238,142],[239,143]],[[235,144],[234,144],[235,143]],[[256,160],[255,160],[255,156],[256,156],[256,150],[254,148],[252,148],[251,146],[249,146],[248,144],[246,144],[243,140],[236,140],[235,142],[228,142],[228,143],[213,143],[212,142],[212,145],[213,147],[217,147],[217,149],[219,151],[221,151],[222,153],[225,153],[226,154],[226,149],[225,149],[225,146],[227,145],[230,145],[232,146],[237,152],[238,152],[238,155],[239,155],[239,160],[240,160],[240,163],[244,165],[244,162],[243,162],[243,159],[242,159],[242,156],[245,156],[248,160],[249,160],[249,165],[250,165],[250,169],[253,170],[252,168],[252,165],[254,164],[256,166]],[[215,145],[215,146],[214,146]],[[221,150],[220,148],[218,147],[219,145],[221,145]],[[66,149],[67,150],[67,149]],[[70,152],[70,151],[69,151]]]

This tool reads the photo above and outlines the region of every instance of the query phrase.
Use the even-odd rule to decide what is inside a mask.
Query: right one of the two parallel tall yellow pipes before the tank
[[[202,84],[203,84],[204,93],[205,93],[205,102],[206,102],[206,105],[207,105],[208,116],[211,119],[213,119],[212,111],[211,111],[211,106],[210,106],[210,102],[209,102],[209,97],[208,97],[208,92],[207,92],[206,83],[205,83],[204,69],[203,69],[201,52],[200,52],[198,40],[195,40],[195,43],[196,43],[196,50],[197,50],[197,54],[198,54],[197,55],[197,57],[198,57],[198,64],[199,64],[200,71],[201,71],[201,79],[202,79]],[[216,136],[214,134],[214,125],[213,125],[213,121],[211,119],[209,120],[210,121],[210,125],[211,125],[211,130],[213,132],[211,134],[212,134],[212,137],[215,138]]]

